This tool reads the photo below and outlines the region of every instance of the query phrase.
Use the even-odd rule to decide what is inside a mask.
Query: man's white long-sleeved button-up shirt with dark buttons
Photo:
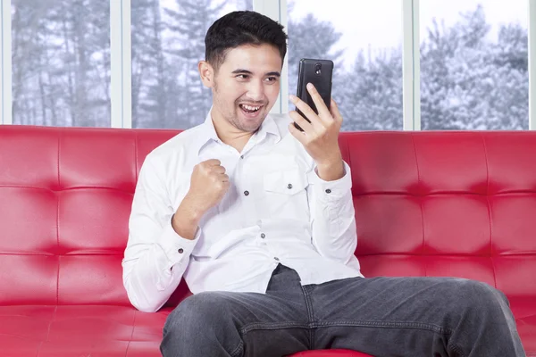
[[[157,311],[184,277],[203,291],[264,293],[281,263],[302,285],[362,277],[350,168],[324,181],[289,133],[288,115],[268,115],[239,153],[205,122],[147,155],[139,173],[122,262],[130,302]],[[230,177],[221,203],[205,213],[194,240],[172,228],[194,166],[218,159]]]

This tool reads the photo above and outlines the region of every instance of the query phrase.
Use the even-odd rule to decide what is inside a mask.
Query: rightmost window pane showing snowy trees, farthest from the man
[[[423,129],[528,129],[528,2],[421,1]]]

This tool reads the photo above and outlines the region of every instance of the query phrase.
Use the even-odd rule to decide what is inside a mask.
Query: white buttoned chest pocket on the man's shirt
[[[267,172],[263,178],[264,217],[286,220],[308,220],[309,204],[305,172],[286,169]]]

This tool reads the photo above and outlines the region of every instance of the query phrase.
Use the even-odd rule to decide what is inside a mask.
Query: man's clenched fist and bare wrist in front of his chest
[[[194,239],[197,225],[205,213],[222,201],[229,190],[229,176],[219,160],[199,162],[192,172],[188,194],[172,218],[177,234]]]

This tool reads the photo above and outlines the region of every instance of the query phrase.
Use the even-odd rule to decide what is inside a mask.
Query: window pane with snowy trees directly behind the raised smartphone
[[[331,59],[343,130],[402,129],[401,3],[289,1],[289,93],[301,58]]]

